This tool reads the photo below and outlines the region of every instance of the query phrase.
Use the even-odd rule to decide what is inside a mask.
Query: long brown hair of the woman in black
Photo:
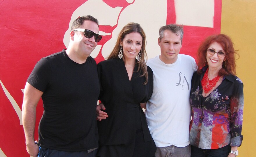
[[[120,48],[121,48],[120,42],[123,41],[123,39],[125,38],[125,36],[127,34],[130,34],[130,33],[133,33],[133,32],[138,32],[142,36],[141,60],[139,62],[137,62],[136,64],[138,64],[138,71],[137,72],[139,72],[141,74],[139,76],[144,76],[146,78],[146,81],[143,83],[143,85],[146,85],[147,81],[148,81],[147,65],[146,65],[147,52],[145,50],[145,47],[146,47],[146,35],[145,35],[144,30],[141,28],[140,24],[132,22],[132,23],[128,23],[127,25],[125,25],[122,28],[122,30],[118,34],[118,38],[117,38],[117,41],[115,43],[115,47],[113,48],[112,52],[107,57],[107,59],[118,58],[118,54],[119,54],[119,51],[120,51]]]

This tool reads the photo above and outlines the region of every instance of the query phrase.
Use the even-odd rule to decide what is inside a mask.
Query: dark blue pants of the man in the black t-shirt
[[[88,151],[58,151],[54,149],[39,147],[38,157],[95,157],[97,149],[88,153]]]

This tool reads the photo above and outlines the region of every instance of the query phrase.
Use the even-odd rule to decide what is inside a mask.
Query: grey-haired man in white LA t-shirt
[[[189,55],[179,54],[183,37],[181,26],[163,26],[159,36],[161,55],[147,61],[154,74],[154,91],[145,111],[150,133],[157,145],[155,155],[190,157],[189,94],[196,70],[195,60]]]

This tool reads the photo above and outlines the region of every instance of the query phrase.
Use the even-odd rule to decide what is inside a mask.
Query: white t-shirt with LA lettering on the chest
[[[189,145],[191,78],[196,71],[195,59],[178,54],[173,64],[165,64],[159,56],[147,65],[154,75],[154,91],[147,102],[147,124],[157,147]]]

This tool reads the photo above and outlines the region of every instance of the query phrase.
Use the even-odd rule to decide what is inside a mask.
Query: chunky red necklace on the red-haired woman
[[[212,80],[209,80],[208,68],[207,68],[205,75],[201,81],[201,84],[202,84],[203,89],[205,90],[205,93],[208,93],[216,85],[216,83],[219,81],[220,77],[221,76],[217,75]]]

